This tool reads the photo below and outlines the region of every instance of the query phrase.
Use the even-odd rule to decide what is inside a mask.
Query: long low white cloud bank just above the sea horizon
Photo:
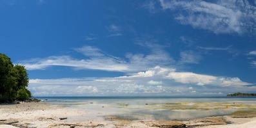
[[[42,95],[216,95],[254,86],[237,77],[177,72],[175,68],[153,67],[120,77],[30,79],[29,88]],[[212,88],[215,86],[215,88]],[[51,87],[51,88],[49,88]],[[217,87],[217,88],[216,88]],[[231,88],[231,90],[230,90]]]

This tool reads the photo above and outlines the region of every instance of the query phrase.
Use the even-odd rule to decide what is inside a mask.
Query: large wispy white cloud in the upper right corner
[[[256,7],[248,1],[159,0],[163,10],[177,12],[175,19],[213,33],[254,33]]]

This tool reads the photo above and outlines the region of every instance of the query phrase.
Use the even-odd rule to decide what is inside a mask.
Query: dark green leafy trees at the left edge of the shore
[[[31,97],[26,89],[28,74],[22,65],[13,65],[5,54],[0,53],[0,102],[25,100]]]

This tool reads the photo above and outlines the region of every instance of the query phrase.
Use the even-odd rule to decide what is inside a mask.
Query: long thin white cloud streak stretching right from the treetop
[[[21,61],[27,70],[44,70],[53,66],[74,67],[76,69],[94,69],[124,72],[128,66],[123,61],[115,58],[91,58],[88,60],[78,60],[70,56],[50,56],[48,58]]]

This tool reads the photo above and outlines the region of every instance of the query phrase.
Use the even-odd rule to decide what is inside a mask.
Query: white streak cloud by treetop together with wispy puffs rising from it
[[[152,47],[150,45],[155,45]],[[28,70],[44,70],[54,66],[73,67],[77,70],[107,70],[114,72],[137,72],[155,67],[155,65],[170,66],[173,59],[165,52],[162,47],[156,44],[148,44],[149,54],[126,54],[126,58],[119,58],[106,54],[97,47],[84,45],[75,48],[86,58],[77,59],[72,56],[49,56],[46,58],[34,58],[31,60],[20,61],[19,64],[25,65]]]

